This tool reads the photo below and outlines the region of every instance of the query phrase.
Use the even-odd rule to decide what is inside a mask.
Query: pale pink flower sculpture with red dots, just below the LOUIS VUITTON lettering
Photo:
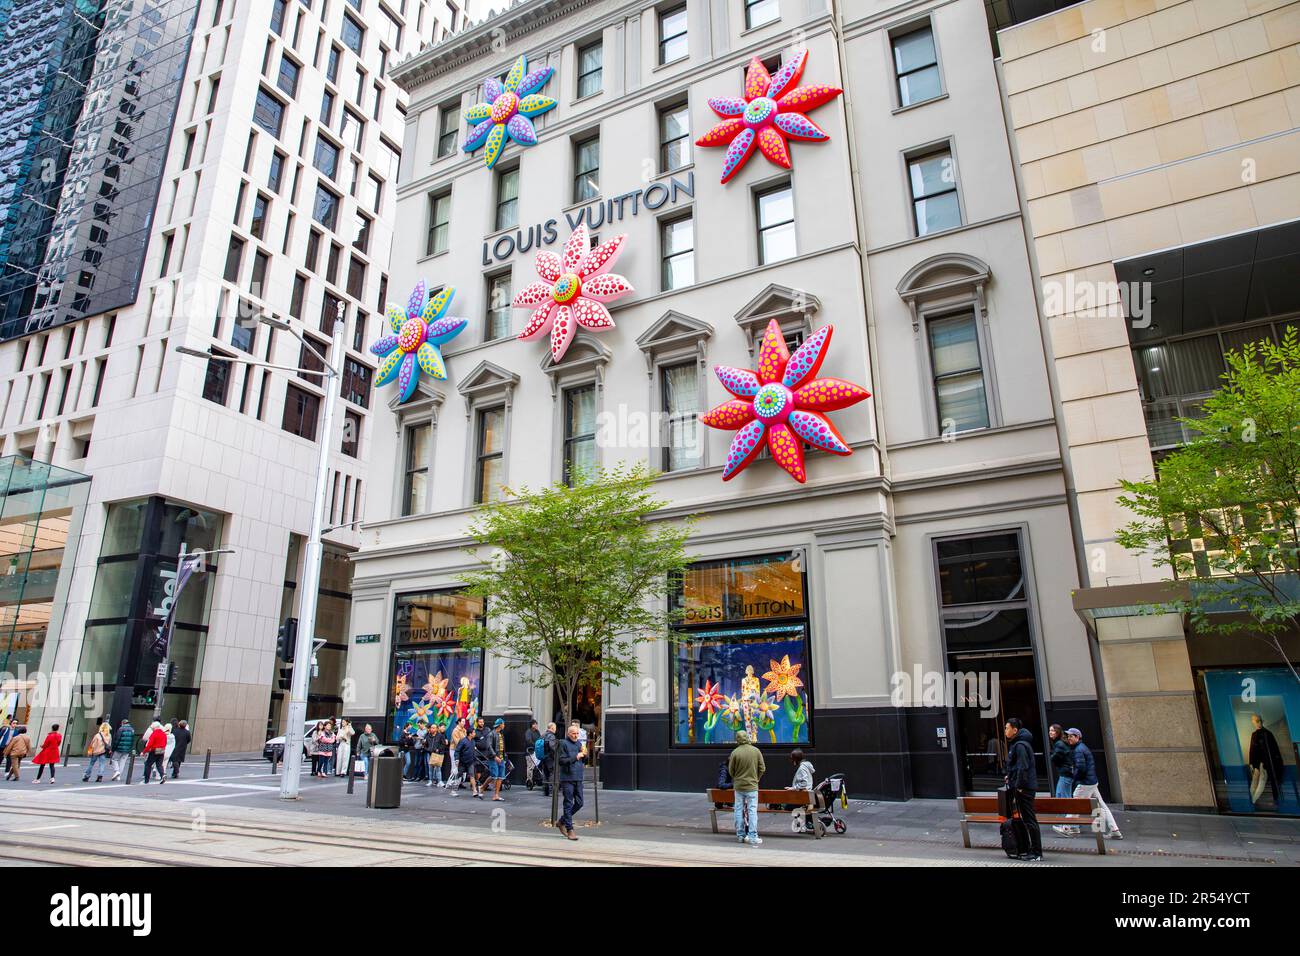
[[[610,272],[623,251],[627,235],[615,235],[590,248],[586,225],[580,225],[564,243],[563,256],[537,254],[541,282],[530,282],[515,295],[515,308],[533,308],[519,337],[525,342],[551,336],[551,359],[564,358],[577,326],[592,332],[614,328],[614,317],[602,303],[632,291],[632,284]]]

